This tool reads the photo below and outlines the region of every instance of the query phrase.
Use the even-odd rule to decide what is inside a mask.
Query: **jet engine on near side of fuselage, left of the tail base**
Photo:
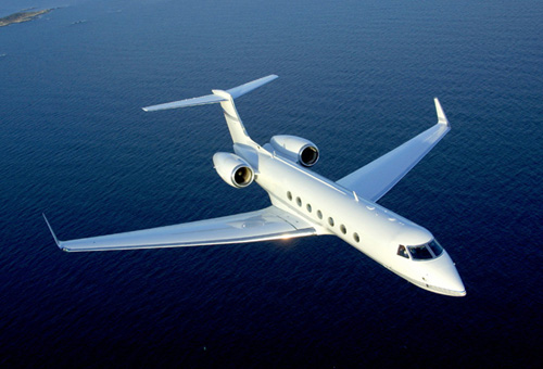
[[[248,187],[254,180],[253,168],[236,154],[217,152],[213,155],[213,165],[220,178],[231,187]]]

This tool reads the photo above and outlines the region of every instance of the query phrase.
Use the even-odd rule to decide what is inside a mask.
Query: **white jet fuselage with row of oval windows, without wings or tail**
[[[268,192],[275,206],[304,218],[319,234],[336,234],[422,289],[465,294],[446,252],[429,260],[397,255],[401,244],[421,245],[433,240],[425,228],[279,156],[268,145],[253,149],[236,144],[235,151],[255,168],[255,181]]]

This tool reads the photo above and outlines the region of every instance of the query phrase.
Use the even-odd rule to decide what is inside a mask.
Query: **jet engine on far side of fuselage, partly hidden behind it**
[[[303,166],[314,166],[318,161],[319,153],[315,143],[301,137],[288,135],[274,136],[269,143],[275,151]]]

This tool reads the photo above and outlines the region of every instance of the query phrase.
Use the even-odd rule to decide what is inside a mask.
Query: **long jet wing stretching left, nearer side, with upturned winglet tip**
[[[276,206],[220,218],[72,241],[60,241],[45,215],[43,218],[56,245],[67,252],[201,246],[317,233],[305,220]]]

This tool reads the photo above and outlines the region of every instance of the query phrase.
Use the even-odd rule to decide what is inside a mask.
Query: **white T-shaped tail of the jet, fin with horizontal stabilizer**
[[[213,94],[168,102],[160,105],[147,106],[143,107],[143,110],[146,112],[155,112],[168,109],[214,104],[218,102],[220,103],[220,107],[223,107],[223,112],[225,113],[226,123],[228,125],[228,130],[230,131],[230,136],[232,137],[233,143],[254,145],[255,143],[253,142],[253,140],[251,140],[251,138],[247,133],[245,127],[243,126],[243,123],[241,122],[238,111],[236,110],[236,104],[233,103],[233,99],[237,99],[248,92],[251,92],[255,88],[266,85],[267,82],[270,82],[276,78],[277,78],[276,75],[269,75],[267,77],[253,80],[251,82],[231,88],[226,91],[212,90]]]

